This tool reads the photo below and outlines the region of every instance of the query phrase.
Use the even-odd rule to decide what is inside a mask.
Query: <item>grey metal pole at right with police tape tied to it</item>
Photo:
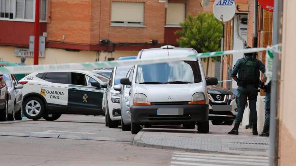
[[[281,17],[283,11],[283,1],[274,0],[273,14],[273,35],[272,45],[281,43]],[[278,118],[278,101],[279,101],[279,78],[281,71],[281,60],[279,54],[274,53],[271,79],[271,99],[270,99],[270,143],[269,143],[269,165],[278,165],[278,150],[279,150],[279,118]]]

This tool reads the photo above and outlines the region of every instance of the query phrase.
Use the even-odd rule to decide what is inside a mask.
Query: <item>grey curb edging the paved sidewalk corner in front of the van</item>
[[[163,146],[156,144],[149,144],[141,140],[141,136],[145,131],[140,131],[136,136],[134,136],[132,145],[137,147],[149,147],[149,148],[157,148],[157,149],[166,149],[166,150],[176,150],[176,151],[185,151],[185,152],[193,152],[193,153],[219,153],[219,154],[231,154],[231,155],[241,155],[242,153],[231,153],[231,152],[221,152],[221,151],[210,151],[210,150],[200,150],[200,149],[192,149],[192,148],[182,148],[182,147],[174,147],[174,146]],[[242,154],[246,155],[246,154]]]

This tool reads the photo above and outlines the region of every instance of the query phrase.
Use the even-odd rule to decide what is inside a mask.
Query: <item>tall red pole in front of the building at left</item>
[[[35,29],[34,29],[34,65],[38,65],[38,58],[39,58],[39,11],[40,11],[40,0],[36,0]]]

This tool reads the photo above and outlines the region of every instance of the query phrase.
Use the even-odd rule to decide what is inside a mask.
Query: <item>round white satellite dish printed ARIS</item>
[[[213,13],[216,19],[227,22],[234,17],[236,5],[234,0],[215,0]]]

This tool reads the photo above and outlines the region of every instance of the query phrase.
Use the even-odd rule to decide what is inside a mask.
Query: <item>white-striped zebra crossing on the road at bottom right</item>
[[[200,165],[200,166],[225,166],[225,165],[268,165],[268,157],[243,156],[231,154],[205,154],[174,152],[171,158],[173,165]]]

